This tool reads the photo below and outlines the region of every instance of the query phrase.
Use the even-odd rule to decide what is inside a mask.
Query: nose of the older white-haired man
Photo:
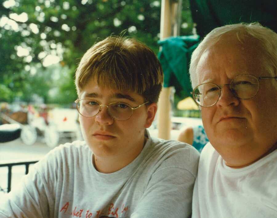
[[[228,84],[223,85],[221,88],[221,93],[219,96],[219,100],[216,105],[219,107],[226,107],[226,106],[237,106],[239,104],[239,98],[234,95],[231,91],[231,88]]]

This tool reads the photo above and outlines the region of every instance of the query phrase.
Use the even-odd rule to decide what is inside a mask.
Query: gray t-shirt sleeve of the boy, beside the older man
[[[189,146],[173,152],[152,174],[131,218],[190,217],[199,153]]]

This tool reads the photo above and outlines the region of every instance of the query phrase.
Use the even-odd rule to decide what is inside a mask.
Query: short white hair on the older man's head
[[[216,44],[220,38],[227,33],[235,32],[241,43],[247,43],[249,37],[256,39],[258,50],[261,54],[263,69],[268,71],[270,76],[277,76],[277,34],[259,23],[239,23],[221,26],[212,30],[205,36],[203,41],[194,50],[191,56],[190,77],[192,88],[199,85],[199,77],[196,72],[198,62],[204,51]],[[277,89],[277,80],[272,80]]]

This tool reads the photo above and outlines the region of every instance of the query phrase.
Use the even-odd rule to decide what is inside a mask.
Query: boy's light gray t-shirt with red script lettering
[[[149,138],[121,170],[95,170],[85,142],[56,147],[0,203],[0,217],[189,217],[199,153]]]

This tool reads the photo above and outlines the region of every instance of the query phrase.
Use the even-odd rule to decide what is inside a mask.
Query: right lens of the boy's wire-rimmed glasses
[[[119,121],[124,121],[132,116],[132,108],[125,103],[115,102],[109,104],[108,107],[110,115]]]

